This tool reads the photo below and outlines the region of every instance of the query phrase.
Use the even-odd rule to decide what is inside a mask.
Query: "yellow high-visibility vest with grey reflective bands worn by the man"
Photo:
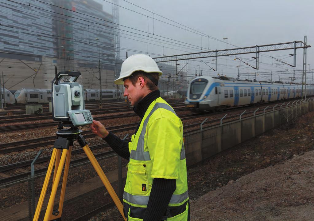
[[[130,161],[123,202],[128,221],[143,220],[154,178],[175,179],[176,190],[168,204],[167,220],[188,217],[187,167],[183,125],[173,108],[161,97],[154,100],[129,142]]]

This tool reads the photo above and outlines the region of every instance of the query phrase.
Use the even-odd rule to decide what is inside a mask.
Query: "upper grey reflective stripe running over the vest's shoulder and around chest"
[[[144,136],[145,136],[145,133],[146,133],[146,127],[147,127],[149,118],[158,108],[164,108],[164,109],[169,110],[172,113],[176,114],[176,112],[168,104],[156,103],[154,105],[153,109],[148,114],[147,118],[144,120],[143,128],[141,130],[141,134],[138,137],[138,143],[137,143],[137,146],[136,146],[136,151],[135,150],[131,150],[130,159],[142,160],[142,161],[149,161],[150,160],[149,152],[148,151],[144,152]],[[182,142],[181,153],[180,153],[180,160],[183,160],[183,159],[185,159],[185,152],[184,152],[184,145],[183,145],[183,142]]]

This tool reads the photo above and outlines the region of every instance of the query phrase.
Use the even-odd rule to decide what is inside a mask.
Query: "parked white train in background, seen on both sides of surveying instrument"
[[[119,100],[122,99],[122,91],[118,90],[101,90],[102,100]],[[35,103],[49,103],[51,101],[51,89],[27,89],[21,88],[14,93],[14,98],[18,104],[35,104]],[[99,101],[99,90],[84,89],[84,100]],[[15,102],[14,100],[14,102]]]

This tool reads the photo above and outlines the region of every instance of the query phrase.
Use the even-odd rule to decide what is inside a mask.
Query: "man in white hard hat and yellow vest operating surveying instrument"
[[[114,81],[124,85],[124,96],[141,119],[131,142],[121,140],[99,121],[90,126],[117,154],[129,159],[123,194],[128,221],[190,220],[183,126],[160,97],[160,75],[152,58],[135,54],[122,63],[120,77]]]

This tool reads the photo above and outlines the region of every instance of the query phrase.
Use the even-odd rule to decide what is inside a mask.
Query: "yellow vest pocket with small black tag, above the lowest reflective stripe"
[[[146,195],[149,191],[146,164],[129,162],[128,167],[129,185],[131,194]]]

